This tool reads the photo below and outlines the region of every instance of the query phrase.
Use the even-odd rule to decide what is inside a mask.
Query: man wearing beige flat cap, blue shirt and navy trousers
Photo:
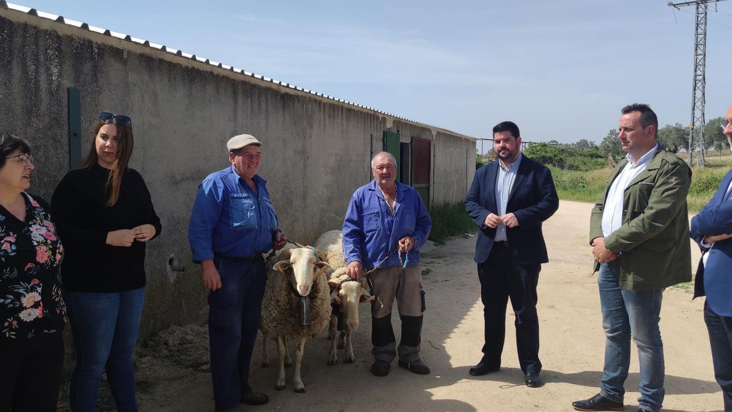
[[[193,262],[209,289],[209,341],[216,411],[261,405],[249,386],[249,364],[266,277],[262,253],[287,243],[266,181],[257,174],[261,142],[236,135],[226,143],[231,166],[206,176],[188,225]]]

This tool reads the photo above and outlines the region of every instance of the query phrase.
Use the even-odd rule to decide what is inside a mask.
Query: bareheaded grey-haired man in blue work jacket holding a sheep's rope
[[[364,269],[378,265],[368,277],[371,294],[376,298],[371,302],[371,353],[375,359],[371,373],[389,375],[398,351],[400,367],[425,375],[430,368],[419,359],[425,311],[419,249],[427,241],[432,220],[417,190],[396,181],[397,161],[392,154],[376,154],[371,172],[373,180],[356,189],[343,220],[343,257],[348,263],[348,276],[358,279]],[[390,255],[397,249],[399,252]],[[402,269],[405,259],[407,266]],[[398,348],[392,329],[395,298],[402,321]]]

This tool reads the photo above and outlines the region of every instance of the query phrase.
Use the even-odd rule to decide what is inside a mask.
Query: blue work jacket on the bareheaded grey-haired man
[[[419,249],[427,241],[432,228],[430,214],[417,190],[399,182],[395,210],[392,216],[375,180],[356,189],[343,220],[343,258],[346,258],[346,263],[359,261],[364,269],[373,269],[398,247],[400,239],[410,236],[414,239],[414,247],[409,251],[408,264],[419,264]],[[380,267],[385,266],[400,266],[397,253]]]

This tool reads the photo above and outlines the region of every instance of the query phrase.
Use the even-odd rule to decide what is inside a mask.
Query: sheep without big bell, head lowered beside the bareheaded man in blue
[[[362,287],[361,282],[348,280],[342,243],[343,233],[341,231],[328,231],[315,241],[315,247],[324,255],[324,261],[333,269],[333,273],[328,280],[333,305],[328,332],[328,339],[330,340],[328,364],[330,365],[338,362],[337,349],[343,348],[346,349],[346,363],[356,362],[354,348],[351,345],[351,334],[359,328],[359,304],[374,299]],[[340,330],[340,336],[336,340],[338,312],[343,317],[343,329]]]

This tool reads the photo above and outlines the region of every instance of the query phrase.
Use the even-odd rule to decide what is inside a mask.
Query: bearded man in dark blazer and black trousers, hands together
[[[475,245],[485,345],[471,375],[501,367],[509,297],[516,315],[518,362],[526,386],[542,386],[539,373],[537,283],[541,264],[549,261],[542,222],[559,209],[551,172],[521,154],[518,126],[502,121],[493,127],[498,160],[475,172],[465,207],[480,231]]]

